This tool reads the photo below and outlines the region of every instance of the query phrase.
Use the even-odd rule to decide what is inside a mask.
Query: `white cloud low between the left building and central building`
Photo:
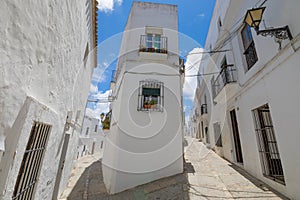
[[[89,117],[100,119],[101,113],[108,113],[110,103],[107,101],[108,101],[108,96],[110,94],[111,94],[110,90],[91,94],[90,99],[98,99],[99,102],[93,103],[94,105],[92,106],[92,108],[89,106],[86,109],[85,114]]]

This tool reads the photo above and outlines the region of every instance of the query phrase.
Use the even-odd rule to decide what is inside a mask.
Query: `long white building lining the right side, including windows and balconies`
[[[265,7],[259,30],[288,25],[293,38],[263,36],[243,21]],[[300,1],[217,0],[199,73],[201,137],[221,156],[280,193],[300,199]],[[273,32],[274,33],[274,32]],[[282,32],[281,32],[282,33]],[[204,113],[204,112],[203,112]]]

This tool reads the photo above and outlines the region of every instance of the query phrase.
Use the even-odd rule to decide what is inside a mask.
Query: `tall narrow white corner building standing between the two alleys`
[[[104,183],[117,193],[183,171],[177,6],[134,2],[113,91]]]

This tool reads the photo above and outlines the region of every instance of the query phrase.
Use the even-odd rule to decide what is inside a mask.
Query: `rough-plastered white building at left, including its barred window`
[[[0,199],[56,199],[96,66],[96,1],[1,1]]]

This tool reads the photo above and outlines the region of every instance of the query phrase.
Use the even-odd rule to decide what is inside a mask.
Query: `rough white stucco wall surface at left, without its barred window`
[[[33,120],[52,125],[35,199],[50,199],[55,183],[68,111],[81,111],[89,91],[93,63],[83,64],[88,32],[85,1],[1,1],[0,12],[0,135],[6,137],[0,163],[0,192],[10,199]],[[93,44],[89,44],[90,47]],[[22,114],[26,99],[47,112]],[[27,120],[21,122],[20,120]],[[21,117],[21,118],[20,118]],[[27,127],[26,129],[24,127]],[[21,131],[21,134],[19,131]],[[66,184],[76,152],[73,133],[61,188]],[[13,136],[13,137],[12,137]],[[15,155],[14,155],[15,154]]]

